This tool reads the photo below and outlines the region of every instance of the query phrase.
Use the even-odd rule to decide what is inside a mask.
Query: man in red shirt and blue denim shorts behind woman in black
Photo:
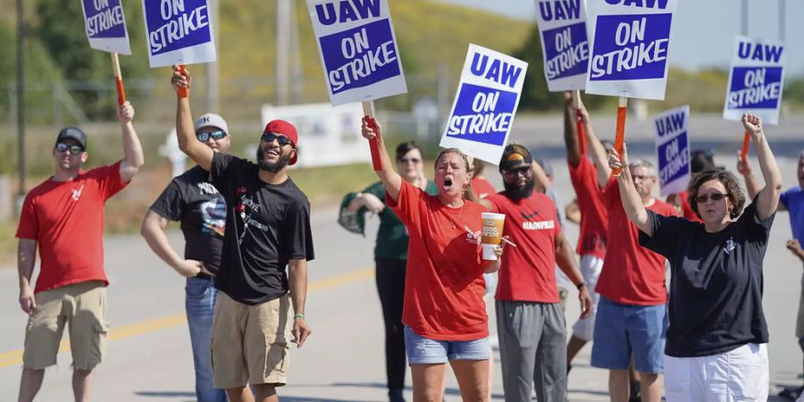
[[[593,151],[598,166],[607,163],[602,148]],[[657,214],[676,215],[672,205],[653,197],[657,183],[653,165],[634,160],[629,167],[642,204]],[[606,257],[595,288],[600,302],[591,365],[609,370],[610,398],[612,402],[625,402],[629,399],[628,366],[633,356],[642,400],[659,402],[662,385],[658,374],[664,370],[667,326],[665,258],[639,245],[639,230],[628,221],[616,178],[599,169],[598,180],[606,183],[601,200],[608,210],[608,228]]]

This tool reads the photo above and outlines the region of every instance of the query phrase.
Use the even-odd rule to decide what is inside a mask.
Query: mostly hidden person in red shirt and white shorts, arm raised
[[[579,115],[576,117],[577,115]],[[581,119],[582,130],[577,130],[576,119]],[[589,284],[592,297],[591,311],[588,317],[575,322],[573,336],[566,346],[567,366],[571,367],[575,355],[583,346],[592,340],[595,329],[595,315],[598,309],[599,293],[594,291],[603,268],[606,256],[606,229],[608,227],[608,211],[600,200],[601,188],[598,183],[598,172],[602,170],[608,176],[611,172],[607,164],[596,166],[586,156],[587,145],[592,152],[595,149],[608,149],[614,144],[599,141],[592,129],[589,113],[581,105],[576,109],[572,104],[569,92],[565,93],[564,111],[564,143],[566,162],[569,166],[570,180],[575,189],[576,203],[581,213],[581,232],[575,252],[581,255],[580,267],[583,280]]]

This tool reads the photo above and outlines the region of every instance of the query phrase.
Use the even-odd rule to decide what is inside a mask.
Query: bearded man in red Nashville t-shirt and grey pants
[[[505,190],[483,199],[491,212],[506,215],[503,234],[517,247],[502,256],[497,288],[497,329],[507,402],[566,398],[566,330],[555,265],[578,288],[582,317],[591,297],[558,224],[556,205],[533,191],[531,153],[509,145],[499,163]]]

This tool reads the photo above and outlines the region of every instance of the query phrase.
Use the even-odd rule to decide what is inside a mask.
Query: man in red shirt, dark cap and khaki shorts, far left
[[[128,185],[143,163],[131,120],[134,108],[118,108],[123,159],[87,172],[87,136],[78,128],[59,132],[53,147],[54,175],[30,190],[22,204],[17,268],[20,306],[29,314],[22,355],[20,401],[36,397],[45,368],[56,363],[64,325],[70,325],[72,390],[89,400],[92,370],[103,360],[105,299],[104,205]],[[37,248],[42,259],[35,289],[30,279]]]

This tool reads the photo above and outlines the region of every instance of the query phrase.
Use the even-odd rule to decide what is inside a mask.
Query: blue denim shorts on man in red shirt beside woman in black
[[[591,365],[628,370],[633,355],[637,372],[662,373],[666,331],[666,305],[622,305],[600,297]]]

